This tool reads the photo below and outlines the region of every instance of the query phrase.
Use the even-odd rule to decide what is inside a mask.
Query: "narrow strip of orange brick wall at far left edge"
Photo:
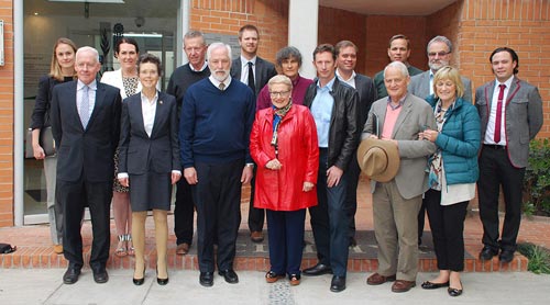
[[[13,226],[13,4],[0,0],[4,66],[0,67],[0,227]]]

